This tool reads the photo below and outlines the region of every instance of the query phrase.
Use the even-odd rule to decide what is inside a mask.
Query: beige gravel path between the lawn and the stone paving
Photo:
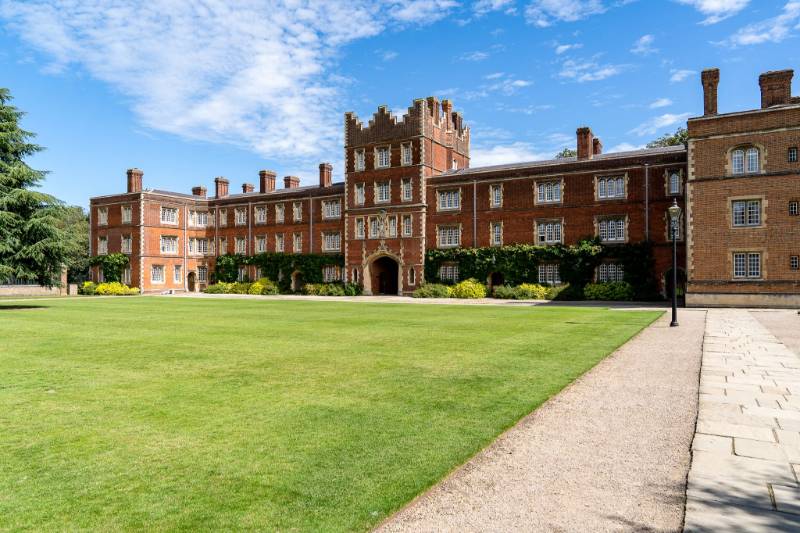
[[[378,531],[679,531],[705,316],[665,314]]]

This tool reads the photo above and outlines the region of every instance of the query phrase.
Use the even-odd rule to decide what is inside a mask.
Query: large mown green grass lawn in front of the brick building
[[[25,305],[0,303],[0,530],[365,530],[661,314]]]

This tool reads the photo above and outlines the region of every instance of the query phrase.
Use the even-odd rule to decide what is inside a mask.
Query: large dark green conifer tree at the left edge
[[[66,257],[64,232],[59,228],[62,204],[32,190],[45,172],[24,159],[42,150],[29,142],[22,111],[9,105],[11,93],[0,88],[0,282],[11,279],[59,285]]]

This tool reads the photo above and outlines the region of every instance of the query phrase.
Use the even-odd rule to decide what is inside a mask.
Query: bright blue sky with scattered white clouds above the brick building
[[[342,177],[342,115],[454,101],[472,166],[552,157],[588,125],[630,149],[702,113],[759,104],[798,66],[797,0],[0,0],[0,86],[47,150],[43,189],[87,205],[145,187],[211,189],[258,170]],[[795,92],[796,94],[796,92]]]

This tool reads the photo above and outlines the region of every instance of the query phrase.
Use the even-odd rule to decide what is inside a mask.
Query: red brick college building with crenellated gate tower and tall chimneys
[[[784,211],[795,205],[796,212],[798,195],[800,105],[790,96],[791,71],[762,76],[766,107],[747,113],[716,114],[715,80],[717,71],[703,74],[705,115],[689,121],[688,150],[604,154],[600,139],[582,127],[576,157],[471,168],[470,131],[461,114],[450,101],[429,97],[414,101],[402,118],[386,107],[366,124],[345,115],[344,183],[332,183],[331,166],[323,163],[315,186],[299,187],[298,178],[287,176],[278,189],[275,174],[263,170],[258,190],[245,183],[241,193],[230,194],[228,180],[217,178],[209,197],[204,187],[192,194],[143,189],[142,172],[131,169],[126,193],[91,200],[92,254],[129,254],[126,281],[143,292],[199,290],[225,253],[343,254],[344,270],[324,267],[325,279],[360,283],[366,294],[409,294],[425,281],[428,249],[572,244],[597,236],[609,246],[650,241],[653,274],[666,292],[667,208],[676,200],[688,213],[688,226],[680,224],[679,264],[688,265],[689,303],[735,303],[714,295],[747,291],[774,295],[769,302],[795,301],[800,278],[796,256],[787,254],[798,253],[800,219],[777,212],[779,204]],[[750,146],[760,149],[758,173],[725,170],[731,157],[739,164],[737,147],[749,161]],[[761,199],[761,226],[729,228],[726,206],[737,217],[741,207],[730,203],[734,197]],[[753,239],[764,240],[756,247]],[[758,276],[740,279],[729,264],[739,265],[740,253],[763,254]],[[259,273],[250,266],[240,274]],[[99,279],[101,272],[93,275]],[[623,275],[621,265],[604,263],[596,277]],[[458,265],[443,265],[440,276],[458,279]],[[539,278],[558,283],[557,266],[542,265]],[[502,274],[486,281],[502,283]],[[292,278],[293,287],[300,283]]]

